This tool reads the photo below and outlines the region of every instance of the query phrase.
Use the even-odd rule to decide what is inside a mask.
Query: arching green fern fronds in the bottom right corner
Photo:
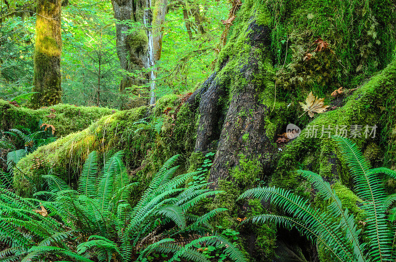
[[[378,174],[396,177],[396,172],[387,168],[372,169],[351,140],[341,136],[333,138],[338,142],[350,168],[355,192],[364,201],[361,206],[367,218],[364,232],[357,229],[354,216],[343,206],[331,185],[310,171],[297,172],[308,179],[319,196],[330,201],[326,208],[315,208],[309,204],[309,200],[275,187],[249,189],[239,199],[255,197],[269,200],[282,208],[293,217],[264,214],[251,219],[256,223],[274,221],[289,229],[297,228],[301,234],[331,253],[334,261],[393,261],[392,237],[395,228],[389,223],[387,209],[391,207],[395,196],[387,196]],[[367,244],[361,242],[361,233],[367,238]]]

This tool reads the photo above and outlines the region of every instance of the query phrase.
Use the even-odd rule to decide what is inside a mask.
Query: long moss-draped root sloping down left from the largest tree
[[[104,160],[118,150],[124,150],[133,179],[149,179],[169,157],[178,153],[189,156],[194,149],[194,113],[188,106],[181,105],[180,99],[178,95],[168,95],[162,97],[155,108],[144,106],[117,111],[100,118],[83,131],[39,147],[17,164],[14,171],[15,189],[21,195],[31,196],[39,190],[37,186],[41,184],[41,175],[49,168],[73,185],[82,164],[93,150],[98,151]],[[177,117],[171,117],[176,106]],[[174,109],[168,115],[162,114],[168,107]],[[148,116],[151,120],[135,123]],[[138,172],[145,175],[140,177]]]

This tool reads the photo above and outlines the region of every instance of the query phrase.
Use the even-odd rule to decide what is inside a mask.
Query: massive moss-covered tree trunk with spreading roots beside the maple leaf
[[[235,16],[235,20],[226,26],[227,38],[214,73],[188,101],[199,113],[195,152],[216,152],[209,187],[229,192],[227,201],[263,184],[303,192],[310,190],[309,186],[301,184],[292,172],[301,166],[331,183],[352,187],[334,143],[327,135],[321,136],[322,126],[331,125],[335,134],[337,125],[348,129],[377,125],[381,129],[377,137],[362,133],[352,138],[366,151],[371,150],[366,153],[371,160],[394,154],[396,147],[387,142],[393,133],[389,127],[396,124],[389,102],[396,98],[392,88],[396,85],[395,61],[376,79],[360,86],[366,76],[386,67],[395,52],[395,14],[384,14],[396,9],[396,4],[387,4],[233,1],[230,18]],[[312,48],[312,43],[318,37],[330,45],[313,53],[317,45]],[[304,59],[307,53],[315,58]],[[339,87],[350,91],[334,99],[330,94]],[[311,90],[326,98],[330,112],[298,118],[303,113],[298,102],[303,102]],[[284,133],[289,123],[299,126],[301,135],[277,143],[278,134]],[[306,138],[312,126],[319,129],[318,136]],[[227,207],[233,210],[227,219],[248,216],[251,208],[247,203],[241,205]],[[251,239],[252,231],[245,232],[246,239]],[[265,236],[257,235],[259,238]],[[308,248],[310,254],[305,255],[316,257],[315,249]],[[264,253],[252,255],[272,259],[270,252]]]

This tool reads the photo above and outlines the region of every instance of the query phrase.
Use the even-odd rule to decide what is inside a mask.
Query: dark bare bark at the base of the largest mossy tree
[[[260,102],[262,92],[273,92],[272,81],[258,82],[258,75],[272,78],[272,55],[269,51],[271,30],[267,25],[249,22],[245,29],[248,51],[245,64],[235,75],[230,75],[232,63],[229,56],[224,57],[216,72],[204,83],[200,90],[199,126],[195,151],[207,151],[213,140],[218,141],[217,152],[209,175],[211,188],[216,188],[220,179],[228,177],[230,170],[239,165],[241,154],[249,159],[258,160],[263,167],[270,165],[270,153],[274,153],[274,144],[266,135],[265,120],[268,117],[268,106]],[[264,61],[264,62],[263,62]],[[230,78],[231,83],[245,83],[233,90],[221,79]],[[229,84],[228,84],[229,85]],[[229,93],[225,92],[228,89]],[[194,94],[192,97],[195,97]],[[225,97],[228,102],[225,118],[221,115],[221,103]],[[224,113],[223,113],[224,114]],[[220,130],[219,132],[219,122]],[[264,168],[265,170],[265,168]]]

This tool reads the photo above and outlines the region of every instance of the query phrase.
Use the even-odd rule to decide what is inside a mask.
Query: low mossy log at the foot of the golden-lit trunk
[[[16,125],[33,130],[41,119],[44,123],[55,127],[55,135],[58,137],[86,129],[99,118],[118,112],[106,107],[69,104],[57,104],[33,110],[14,106],[4,100],[0,100],[0,108],[0,130],[9,130]]]

